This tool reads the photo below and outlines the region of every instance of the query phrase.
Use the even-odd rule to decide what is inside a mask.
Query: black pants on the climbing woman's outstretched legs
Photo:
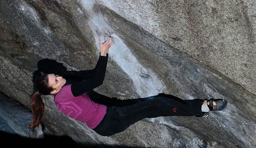
[[[130,125],[144,118],[158,116],[203,116],[203,100],[182,100],[178,97],[160,94],[143,99],[112,101],[115,106],[107,107],[107,114],[93,130],[101,136],[111,136],[126,130]]]

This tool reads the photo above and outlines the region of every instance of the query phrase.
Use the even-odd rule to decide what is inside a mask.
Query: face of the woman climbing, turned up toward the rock
[[[66,83],[65,78],[55,75],[55,74],[48,74],[48,83],[49,86],[51,86],[54,90],[51,92],[51,94],[58,93],[61,88]]]

